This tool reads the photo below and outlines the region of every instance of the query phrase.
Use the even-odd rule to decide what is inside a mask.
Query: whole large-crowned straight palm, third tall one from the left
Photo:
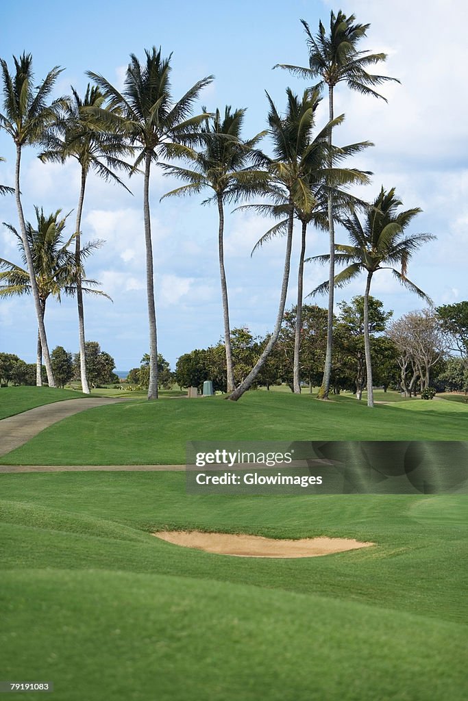
[[[149,175],[152,163],[159,156],[180,156],[187,153],[187,144],[197,142],[196,132],[206,114],[191,116],[194,101],[199,93],[213,80],[213,76],[195,83],[178,102],[171,95],[169,75],[171,56],[161,57],[161,48],[145,50],[146,62],[140,64],[131,54],[126,70],[123,92],[114,88],[99,74],[88,72],[109,100],[109,109],[119,109],[119,126],[126,130],[130,143],[140,153],[133,164],[136,172],[144,166],[143,215],[145,220],[146,279],[149,317],[149,388],[148,399],[158,398],[158,350],[156,337],[156,308],[154,304],[154,273],[151,222],[149,219]],[[109,115],[101,115],[104,118]],[[115,118],[111,123],[115,123]]]

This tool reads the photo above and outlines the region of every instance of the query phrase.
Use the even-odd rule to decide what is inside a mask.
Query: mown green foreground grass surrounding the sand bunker
[[[66,701],[467,697],[466,496],[188,496],[180,472],[0,486],[4,679]],[[227,557],[149,534],[165,527],[375,546]]]

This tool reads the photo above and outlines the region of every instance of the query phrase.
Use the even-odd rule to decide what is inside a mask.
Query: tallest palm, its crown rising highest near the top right
[[[290,72],[305,79],[321,80],[316,87],[322,90],[328,86],[328,110],[330,121],[333,120],[333,90],[338,83],[345,82],[351,90],[356,90],[363,95],[373,95],[385,100],[385,97],[377,93],[374,88],[386,81],[399,81],[389,76],[379,76],[369,74],[368,67],[385,61],[385,53],[368,53],[368,51],[358,51],[357,44],[366,36],[370,25],[354,24],[354,15],[347,17],[342,11],[337,15],[330,13],[330,34],[326,34],[326,29],[322,22],[319,22],[319,32],[314,36],[305,20],[301,20],[307,34],[307,46],[309,48],[309,67],[293,66],[290,64],[278,64],[279,67],[288,69]],[[387,100],[385,100],[387,102]],[[329,143],[332,143],[332,132],[328,136]],[[333,158],[330,154],[330,159]],[[330,161],[331,166],[331,161]],[[330,243],[330,261],[328,279],[333,280],[335,276],[335,227],[333,222],[333,193],[328,193],[328,234]],[[325,368],[323,381],[319,397],[328,398],[330,387],[330,374],[333,350],[333,285],[330,284],[328,290],[328,330]]]

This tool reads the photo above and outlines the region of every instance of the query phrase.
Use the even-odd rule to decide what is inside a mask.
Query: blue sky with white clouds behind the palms
[[[421,207],[410,233],[437,237],[417,253],[408,276],[429,294],[434,304],[467,299],[468,271],[468,90],[467,46],[464,32],[468,6],[462,0],[276,0],[255,3],[194,5],[140,0],[138,13],[128,3],[63,4],[44,0],[2,5],[0,56],[12,69],[12,55],[32,53],[39,83],[55,65],[64,70],[56,94],[80,94],[86,90],[91,70],[122,86],[131,53],[143,60],[145,48],[162,47],[172,53],[171,83],[179,98],[196,81],[214,74],[215,80],[200,97],[209,111],[226,104],[247,107],[243,136],[267,128],[267,97],[279,111],[286,107],[286,88],[301,94],[307,82],[281,69],[277,63],[307,65],[305,33],[300,19],[312,31],[319,20],[329,24],[330,10],[354,13],[356,21],[370,23],[360,47],[387,53],[378,72],[398,78],[387,83],[375,100],[351,93],[345,85],[335,90],[335,114],[345,122],[334,132],[336,144],[368,140],[375,144],[347,165],[373,172],[371,183],[356,190],[370,201],[380,187],[396,187],[403,207]],[[319,106],[316,124],[328,121],[326,100]],[[3,110],[3,104],[1,108]],[[272,153],[267,139],[262,147]],[[13,142],[0,132],[0,182],[13,185]],[[100,281],[100,289],[112,297],[88,297],[85,306],[86,337],[98,341],[116,361],[116,369],[140,365],[148,351],[145,290],[145,243],[142,217],[142,177],[127,183],[133,194],[91,176],[83,210],[83,240],[105,240],[88,259],[88,278]],[[203,207],[204,196],[161,196],[178,183],[154,168],[150,206],[154,240],[154,273],[159,352],[175,367],[177,358],[194,348],[206,348],[222,335],[222,307],[218,268],[218,212]],[[67,227],[73,233],[74,211],[79,194],[76,163],[43,164],[37,151],[28,147],[22,159],[22,201],[25,217],[34,222],[34,205],[45,212],[72,212]],[[248,327],[254,334],[270,332],[276,319],[283,271],[283,238],[272,240],[253,256],[250,252],[271,224],[253,212],[231,212],[227,207],[225,264],[229,287],[231,326]],[[0,222],[18,226],[12,196],[0,198]],[[299,231],[291,268],[287,306],[295,304]],[[347,243],[337,229],[336,240]],[[327,252],[328,235],[311,230],[307,255]],[[0,225],[0,257],[20,264],[15,240]],[[307,264],[306,294],[326,279],[326,268]],[[363,294],[359,278],[337,290],[336,303]],[[371,294],[394,311],[397,319],[421,308],[422,301],[405,290],[386,271],[373,279]],[[326,298],[307,299],[326,306]],[[78,324],[74,299],[49,301],[46,329],[51,349],[64,346],[78,351]],[[0,299],[0,351],[35,361],[36,320],[32,298]]]

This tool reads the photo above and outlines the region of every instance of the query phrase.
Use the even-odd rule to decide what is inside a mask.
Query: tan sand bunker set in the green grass
[[[357,550],[359,547],[374,545],[374,543],[359,543],[359,540],[349,538],[274,540],[246,534],[201,533],[201,531],[158,531],[153,533],[153,536],[175,545],[237,557],[319,557],[333,552]]]

